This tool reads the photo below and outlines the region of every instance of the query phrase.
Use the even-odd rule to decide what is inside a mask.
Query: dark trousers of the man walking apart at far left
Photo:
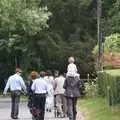
[[[11,91],[11,117],[17,118],[19,113],[20,91]]]

